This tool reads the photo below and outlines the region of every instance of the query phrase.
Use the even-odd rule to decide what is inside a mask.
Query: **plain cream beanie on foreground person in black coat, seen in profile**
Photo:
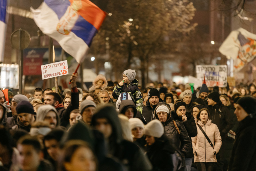
[[[144,134],[160,138],[164,134],[164,127],[159,120],[152,120],[145,126]]]

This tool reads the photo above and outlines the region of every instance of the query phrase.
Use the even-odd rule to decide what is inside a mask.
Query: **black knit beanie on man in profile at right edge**
[[[256,114],[256,99],[251,96],[245,96],[238,99],[236,104],[239,104],[247,114]]]

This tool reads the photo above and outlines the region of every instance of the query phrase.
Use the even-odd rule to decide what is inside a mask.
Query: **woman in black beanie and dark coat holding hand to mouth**
[[[185,90],[190,91],[190,90]],[[180,121],[183,123],[184,127],[186,128],[188,135],[191,138],[197,135],[197,129],[195,125],[194,118],[192,117],[191,112],[186,112],[187,104],[184,101],[178,100],[174,105],[174,111],[172,111],[172,117],[175,121]],[[192,160],[193,160],[193,148],[192,143],[189,149],[189,152],[185,154],[185,163],[187,170],[191,170]]]

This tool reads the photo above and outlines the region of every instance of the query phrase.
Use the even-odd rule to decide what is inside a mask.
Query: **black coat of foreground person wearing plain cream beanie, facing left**
[[[168,137],[163,134],[160,138],[155,138],[152,145],[146,146],[146,154],[153,165],[153,171],[174,170],[173,154],[176,149],[170,144]]]

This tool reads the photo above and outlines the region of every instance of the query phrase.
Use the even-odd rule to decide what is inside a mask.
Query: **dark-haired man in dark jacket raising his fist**
[[[44,103],[47,105],[52,105],[58,111],[60,117],[61,126],[67,127],[69,124],[70,112],[79,107],[79,94],[76,87],[77,75],[72,74],[71,80],[71,103],[65,109],[62,104],[61,96],[58,93],[46,93]]]

